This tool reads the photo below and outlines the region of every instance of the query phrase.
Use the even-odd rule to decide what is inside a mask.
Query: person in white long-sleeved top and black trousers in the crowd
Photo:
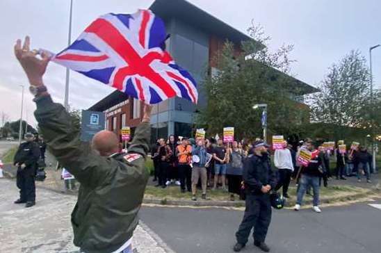
[[[287,190],[291,181],[291,174],[293,173],[293,160],[291,152],[287,147],[287,142],[284,141],[284,149],[276,149],[274,154],[275,167],[278,168],[279,180],[275,190],[283,187],[283,197],[289,197]]]

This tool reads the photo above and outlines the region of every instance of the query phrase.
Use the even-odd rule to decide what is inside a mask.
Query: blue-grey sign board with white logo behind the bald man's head
[[[82,111],[81,140],[90,141],[95,133],[104,130],[105,115],[102,112]]]

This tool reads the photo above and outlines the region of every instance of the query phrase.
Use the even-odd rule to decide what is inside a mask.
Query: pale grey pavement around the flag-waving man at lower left
[[[37,203],[26,209],[13,204],[18,197],[15,181],[0,179],[0,252],[74,253],[70,213],[76,202],[72,195],[37,189]],[[143,222],[133,235],[134,253],[172,253]]]

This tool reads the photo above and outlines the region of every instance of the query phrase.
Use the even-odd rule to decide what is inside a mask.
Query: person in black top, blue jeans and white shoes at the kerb
[[[314,206],[313,209],[316,213],[321,213],[321,209],[318,207],[319,204],[319,179],[322,177],[323,170],[323,158],[320,155],[320,152],[315,149],[315,145],[309,141],[305,146],[311,152],[311,160],[309,161],[307,166],[302,166],[300,168],[300,173],[302,176],[300,177],[300,187],[298,189],[298,198],[296,200],[296,204],[294,207],[295,211],[300,210],[300,205],[302,204],[303,196],[306,193],[307,188],[309,186],[312,187],[314,191]]]

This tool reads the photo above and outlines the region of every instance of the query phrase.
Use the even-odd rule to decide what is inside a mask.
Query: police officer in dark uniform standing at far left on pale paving
[[[15,204],[26,203],[25,207],[35,205],[35,172],[40,147],[34,142],[32,133],[25,134],[26,142],[19,145],[13,164],[17,166],[17,187],[20,189],[20,197]]]

